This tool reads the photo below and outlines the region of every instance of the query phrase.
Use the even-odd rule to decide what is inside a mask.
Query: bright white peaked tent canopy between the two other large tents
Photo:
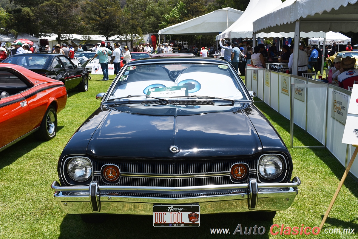
[[[252,21],[269,13],[281,3],[281,0],[251,0],[242,16],[221,34],[217,35],[216,40],[220,38],[252,38]],[[280,34],[257,35],[257,37],[262,38],[269,36],[283,37]]]

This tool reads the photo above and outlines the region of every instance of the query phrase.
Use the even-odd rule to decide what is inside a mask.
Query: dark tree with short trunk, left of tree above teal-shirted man
[[[61,44],[63,34],[71,34],[80,24],[78,0],[50,0],[39,6],[40,25],[43,33],[57,34],[58,44]]]

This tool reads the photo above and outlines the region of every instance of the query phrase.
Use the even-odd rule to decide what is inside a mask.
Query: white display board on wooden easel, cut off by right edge
[[[358,84],[353,85],[342,143],[358,145]]]

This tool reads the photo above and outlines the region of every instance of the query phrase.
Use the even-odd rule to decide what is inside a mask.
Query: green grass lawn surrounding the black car
[[[274,220],[254,221],[242,213],[201,215],[199,228],[154,228],[151,216],[113,215],[105,223],[85,224],[78,215],[64,214],[53,199],[50,185],[58,180],[57,162],[69,138],[82,122],[100,106],[97,93],[106,92],[112,83],[92,75],[88,92],[69,92],[66,108],[58,114],[57,136],[39,142],[33,136],[0,152],[0,238],[234,238],[238,224],[264,226],[269,234],[274,223],[285,226],[319,226],[344,168],[325,149],[294,148],[293,176],[302,184],[292,206],[278,211]],[[289,121],[264,103],[256,103],[289,145]],[[307,133],[295,128],[295,145],[319,145]],[[358,184],[347,177],[324,228],[355,228],[358,233]],[[211,228],[229,228],[231,234],[210,234]],[[241,236],[243,237],[243,236]],[[285,238],[297,236],[285,236]],[[309,235],[308,237],[312,237]],[[250,238],[246,236],[246,238]],[[357,238],[356,235],[319,234],[314,238]]]

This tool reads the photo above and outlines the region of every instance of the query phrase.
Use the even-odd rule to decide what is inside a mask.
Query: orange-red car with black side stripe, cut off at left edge
[[[0,151],[31,133],[39,140],[55,137],[57,113],[66,102],[61,81],[0,63]]]

